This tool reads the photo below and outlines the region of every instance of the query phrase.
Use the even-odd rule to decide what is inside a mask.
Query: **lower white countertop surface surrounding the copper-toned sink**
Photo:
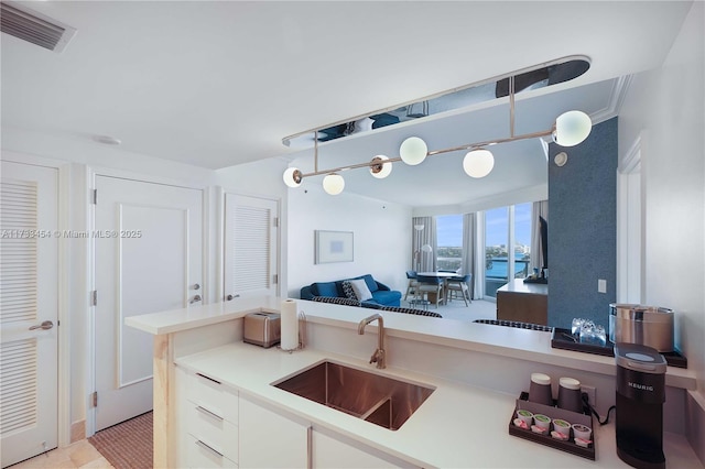
[[[395,432],[364,422],[270,385],[324,359],[373,373],[435,386]],[[433,467],[628,467],[616,454],[614,423],[595,428],[595,461],[509,435],[517,396],[400,369],[376,370],[349,357],[301,350],[293,353],[232,343],[181,358],[200,372],[275,407],[419,466]],[[685,437],[664,434],[668,467],[702,467]]]

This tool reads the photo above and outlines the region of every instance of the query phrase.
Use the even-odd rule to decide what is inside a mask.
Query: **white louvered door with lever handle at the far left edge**
[[[56,168],[2,162],[0,434],[2,467],[57,446]],[[44,324],[44,327],[37,327]]]

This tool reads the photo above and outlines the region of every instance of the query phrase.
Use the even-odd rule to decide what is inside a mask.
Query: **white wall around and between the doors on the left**
[[[129,152],[122,148],[106,146],[90,140],[89,135],[69,135],[33,132],[17,128],[3,128],[2,157],[20,162],[63,167],[65,179],[61,190],[66,195],[65,229],[85,231],[89,229],[88,194],[89,172],[121,175],[142,181],[167,182],[205,189],[207,209],[204,222],[207,227],[206,290],[209,301],[219,301],[221,283],[223,192],[260,196],[275,199],[281,210],[281,285],[286,293],[286,186],[282,173],[286,167],[283,159],[270,159],[219,171]],[[66,261],[66,309],[68,317],[63,325],[69,329],[69,383],[68,418],[70,423],[86,419],[90,371],[90,316],[87,285],[90,260],[86,239],[70,239]]]

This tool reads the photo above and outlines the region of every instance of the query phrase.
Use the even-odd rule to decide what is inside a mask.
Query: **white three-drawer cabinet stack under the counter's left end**
[[[176,368],[180,467],[238,467],[238,395],[199,373]]]

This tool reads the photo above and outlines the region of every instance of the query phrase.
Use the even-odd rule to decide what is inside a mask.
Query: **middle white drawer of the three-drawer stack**
[[[236,425],[195,404],[186,406],[184,424],[184,429],[196,440],[205,443],[228,459],[238,460]]]

